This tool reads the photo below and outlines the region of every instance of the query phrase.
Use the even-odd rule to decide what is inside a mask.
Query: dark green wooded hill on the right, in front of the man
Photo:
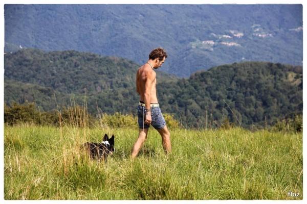
[[[163,87],[163,88],[162,88]],[[269,62],[214,67],[158,89],[167,112],[191,124],[265,126],[302,114],[302,67]]]

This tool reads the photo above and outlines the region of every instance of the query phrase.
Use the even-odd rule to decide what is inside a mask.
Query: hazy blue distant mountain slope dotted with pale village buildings
[[[78,50],[180,77],[241,61],[302,65],[302,5],[5,5],[5,50]]]

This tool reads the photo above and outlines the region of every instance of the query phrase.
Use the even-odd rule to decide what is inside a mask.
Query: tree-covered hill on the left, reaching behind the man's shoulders
[[[86,97],[93,114],[97,113],[96,103],[104,112],[126,113],[135,109],[130,101],[136,104],[139,99],[135,91],[139,65],[126,59],[73,50],[47,53],[23,49],[5,55],[4,61],[8,104],[35,101],[42,110],[50,110],[71,105],[73,98],[82,104]],[[177,80],[163,72],[157,78],[161,82]]]

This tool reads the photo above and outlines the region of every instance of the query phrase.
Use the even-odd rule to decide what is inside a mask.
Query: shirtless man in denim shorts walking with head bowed
[[[137,71],[137,92],[140,95],[140,103],[138,106],[138,123],[139,123],[139,138],[131,151],[131,158],[135,158],[144,141],[147,138],[149,124],[151,124],[160,133],[162,137],[162,145],[165,153],[171,151],[170,133],[167,129],[165,120],[162,116],[157,92],[156,92],[156,72],[167,58],[163,48],[158,47],[153,49],[149,54],[149,60],[141,66]]]

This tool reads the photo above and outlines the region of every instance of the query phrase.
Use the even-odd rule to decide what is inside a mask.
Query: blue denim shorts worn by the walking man
[[[165,125],[166,122],[164,120],[164,117],[161,113],[160,107],[150,107],[151,109],[151,125],[155,127],[156,130],[162,129]],[[138,106],[137,108],[138,111],[138,123],[140,129],[148,129],[149,125],[145,124],[145,115],[147,110],[145,109],[145,106]],[[143,126],[144,125],[144,126]]]

